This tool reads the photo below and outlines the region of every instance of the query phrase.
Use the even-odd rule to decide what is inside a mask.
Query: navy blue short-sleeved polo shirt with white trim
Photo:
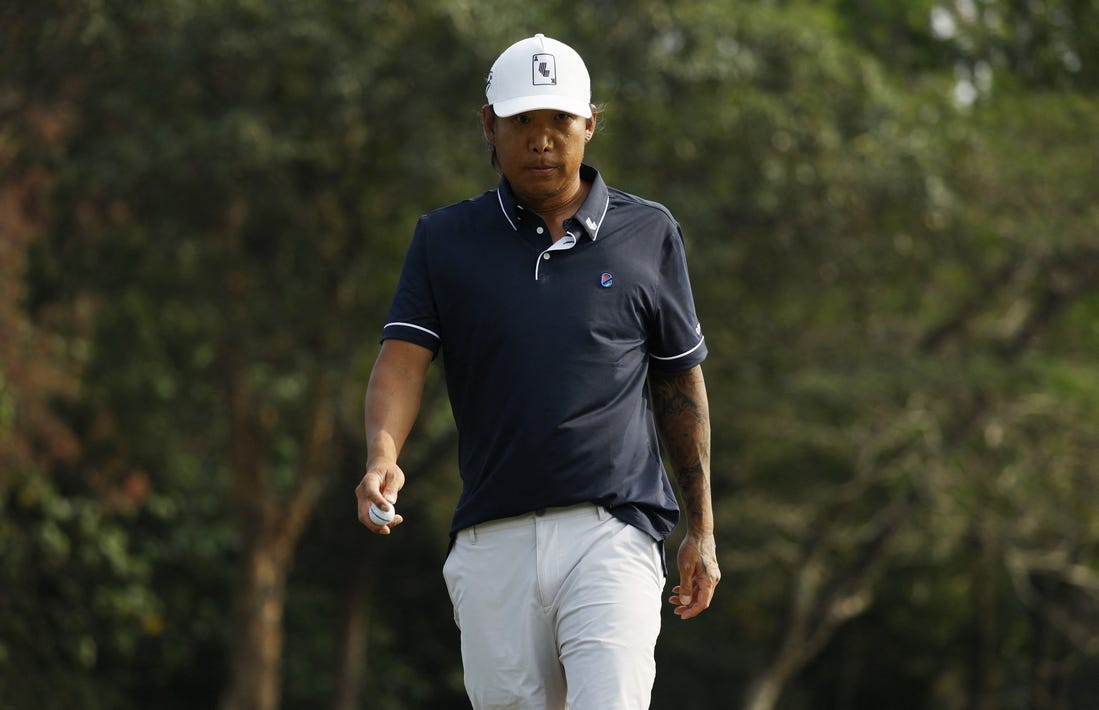
[[[682,234],[663,206],[580,175],[591,190],[555,244],[507,179],[417,224],[382,340],[443,354],[452,535],[585,501],[656,540],[678,520],[646,378],[707,354]]]

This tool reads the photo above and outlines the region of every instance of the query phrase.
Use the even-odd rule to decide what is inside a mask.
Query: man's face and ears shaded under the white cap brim
[[[596,129],[590,119],[554,110],[498,118],[482,110],[485,136],[496,145],[500,169],[515,196],[531,207],[567,200],[579,187],[584,148]]]

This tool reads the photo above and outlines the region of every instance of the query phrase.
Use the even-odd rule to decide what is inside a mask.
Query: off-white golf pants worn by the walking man
[[[592,504],[459,532],[443,566],[475,710],[644,710],[662,545]]]

